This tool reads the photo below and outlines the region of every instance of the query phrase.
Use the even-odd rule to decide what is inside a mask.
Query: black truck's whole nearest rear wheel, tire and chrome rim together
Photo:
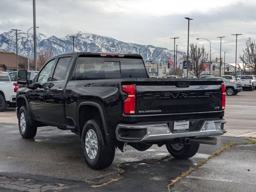
[[[110,166],[115,156],[115,146],[106,144],[103,125],[100,120],[91,119],[84,124],[82,149],[88,166],[99,170]]]

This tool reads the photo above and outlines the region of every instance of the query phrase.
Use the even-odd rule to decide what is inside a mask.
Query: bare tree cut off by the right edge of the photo
[[[240,55],[240,60],[244,62],[245,68],[252,68],[256,74],[256,44],[250,37],[246,40],[246,48],[243,49],[244,58]]]

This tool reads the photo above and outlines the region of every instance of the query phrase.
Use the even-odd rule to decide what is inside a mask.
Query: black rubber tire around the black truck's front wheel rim
[[[24,119],[21,119],[22,113],[25,116]],[[36,136],[36,131],[37,131],[36,126],[31,126],[29,124],[28,118],[29,118],[29,114],[27,112],[26,106],[22,106],[18,114],[18,123],[19,123],[20,135],[25,139],[34,138],[34,136]],[[22,125],[20,123],[21,120],[25,120],[25,130],[22,130]]]

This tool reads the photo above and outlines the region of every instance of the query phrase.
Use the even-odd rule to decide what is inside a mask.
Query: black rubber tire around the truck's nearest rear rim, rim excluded
[[[86,152],[86,144],[85,144],[86,134],[89,130],[94,131],[98,141],[97,142],[98,150],[94,159],[90,158],[88,153]],[[84,128],[82,131],[82,149],[83,149],[85,161],[90,168],[99,170],[99,169],[107,168],[112,164],[116,149],[115,149],[115,146],[108,146],[106,144],[104,129],[103,129],[101,120],[91,119],[84,124]]]

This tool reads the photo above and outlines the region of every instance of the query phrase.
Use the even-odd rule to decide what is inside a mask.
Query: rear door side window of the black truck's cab
[[[57,66],[54,70],[52,81],[63,81],[68,70],[68,64],[71,57],[63,57],[58,60]]]

